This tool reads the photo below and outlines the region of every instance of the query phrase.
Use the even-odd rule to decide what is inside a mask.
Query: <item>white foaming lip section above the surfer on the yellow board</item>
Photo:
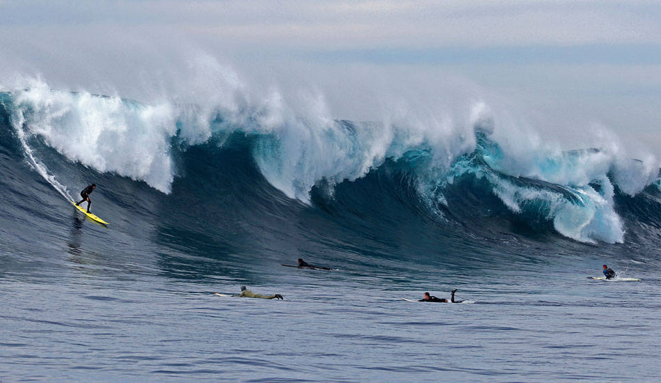
[[[14,91],[17,121],[30,134],[100,171],[144,180],[170,192],[174,178],[170,138],[177,128],[172,108],[127,102],[120,97],[53,91],[35,81]]]

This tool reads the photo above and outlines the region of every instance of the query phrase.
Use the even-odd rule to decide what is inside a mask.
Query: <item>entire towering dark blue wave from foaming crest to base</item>
[[[53,189],[73,200],[95,182],[95,211],[116,230],[186,253],[457,264],[594,245],[658,255],[654,160],[502,139],[484,104],[465,125],[429,127],[333,120],[323,107],[298,116],[277,99],[146,105],[42,83],[0,93],[3,215],[63,219],[48,213],[66,205]]]

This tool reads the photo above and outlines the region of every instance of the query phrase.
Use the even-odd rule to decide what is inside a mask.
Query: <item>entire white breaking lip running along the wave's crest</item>
[[[209,65],[211,69],[203,73],[228,77],[226,70],[218,72],[215,64]],[[655,158],[629,159],[612,136],[596,145],[598,150],[568,154],[548,148],[532,130],[518,130],[484,102],[473,102],[468,113],[455,111],[454,115],[440,107],[393,107],[379,123],[348,127],[333,118],[321,93],[285,102],[278,91],[257,97],[241,86],[238,77],[228,78],[212,86],[213,92],[197,95],[206,100],[204,104],[177,106],[53,91],[43,81],[31,81],[29,87],[13,91],[19,114],[15,121],[21,125],[17,130],[42,136],[72,161],[143,180],[165,193],[170,192],[175,176],[170,153],[173,136],[195,145],[207,141],[213,129],[255,133],[259,139],[253,155],[266,180],[305,203],[320,181],[334,185],[356,180],[386,158],[399,159],[411,150],[422,149],[431,158],[425,169],[417,169],[421,182],[443,185],[445,172],[456,158],[475,150],[475,131],[479,130],[504,148],[498,155],[484,156],[491,168],[572,188],[583,203],[576,205],[553,192],[524,190],[493,178],[490,182],[497,196],[513,212],[520,212],[527,201],[542,201],[556,230],[582,242],[622,242],[623,225],[614,212],[614,185],[634,195],[658,178]],[[214,125],[218,116],[224,123]],[[600,192],[590,186],[593,182],[601,185]]]

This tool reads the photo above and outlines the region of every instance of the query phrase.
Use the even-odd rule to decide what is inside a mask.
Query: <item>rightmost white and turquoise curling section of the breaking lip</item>
[[[534,142],[534,140],[533,140]],[[615,212],[615,186],[634,196],[657,178],[655,158],[630,159],[616,145],[616,139],[597,150],[560,152],[528,143],[518,153],[485,155],[489,167],[514,177],[543,180],[565,187],[580,203],[568,201],[561,194],[527,189],[489,177],[495,194],[513,212],[521,212],[529,202],[543,203],[548,208],[558,233],[580,242],[624,242],[623,222]],[[611,178],[609,178],[609,176]],[[592,185],[599,185],[597,191]]]

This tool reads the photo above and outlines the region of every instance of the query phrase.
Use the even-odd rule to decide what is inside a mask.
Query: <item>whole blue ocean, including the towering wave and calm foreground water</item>
[[[1,382],[659,381],[658,163],[232,105],[0,92]]]

